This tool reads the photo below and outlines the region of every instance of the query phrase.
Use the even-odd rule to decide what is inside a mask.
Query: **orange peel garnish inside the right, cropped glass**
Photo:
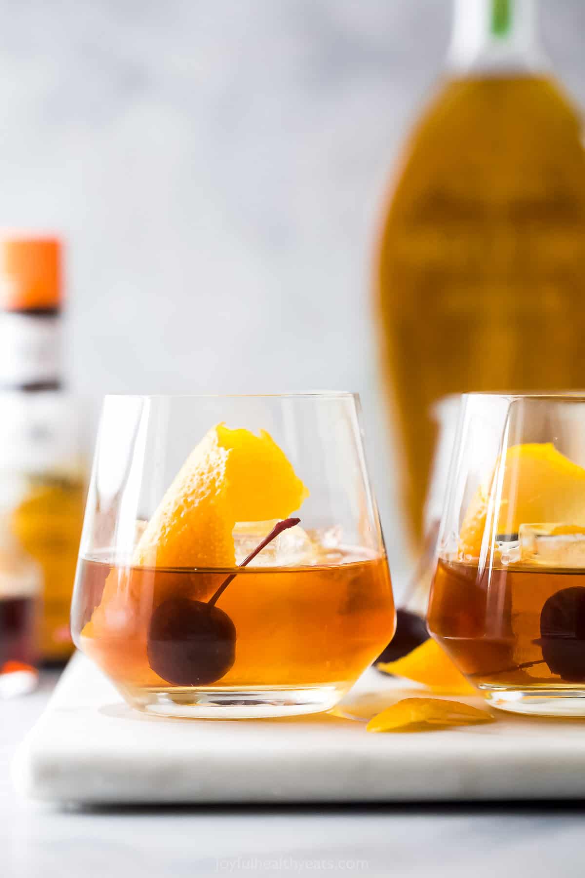
[[[499,495],[495,534],[517,534],[531,522],[585,525],[585,469],[565,457],[553,443],[512,445],[487,483],[479,486],[460,530],[460,551],[479,558],[488,522],[489,497],[497,480]],[[501,486],[501,491],[500,491]]]

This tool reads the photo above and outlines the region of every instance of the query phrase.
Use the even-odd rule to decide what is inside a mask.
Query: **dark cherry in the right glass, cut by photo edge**
[[[585,587],[562,588],[540,613],[542,658],[567,682],[585,680]]]

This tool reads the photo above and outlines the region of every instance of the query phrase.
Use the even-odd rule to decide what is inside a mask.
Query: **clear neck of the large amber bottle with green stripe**
[[[484,76],[531,75],[546,69],[533,0],[455,0],[448,67]]]

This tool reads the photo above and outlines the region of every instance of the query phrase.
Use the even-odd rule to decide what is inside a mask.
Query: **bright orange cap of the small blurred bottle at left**
[[[61,306],[61,241],[0,234],[0,309]]]

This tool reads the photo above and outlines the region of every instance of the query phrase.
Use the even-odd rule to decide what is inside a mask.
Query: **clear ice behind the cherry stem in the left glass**
[[[236,550],[236,564],[242,561],[256,548],[258,543],[268,536],[275,527],[277,519],[268,522],[238,522],[232,530],[233,543]],[[315,564],[317,547],[306,530],[296,524],[294,528],[283,530],[272,542],[268,543],[253,559],[254,567],[290,567]]]

